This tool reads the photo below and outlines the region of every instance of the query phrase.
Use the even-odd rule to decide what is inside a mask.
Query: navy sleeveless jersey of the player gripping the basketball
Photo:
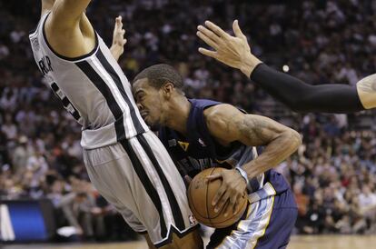
[[[209,133],[203,111],[213,105],[222,103],[205,99],[189,99],[191,111],[187,121],[187,134],[183,136],[167,127],[161,127],[160,139],[171,154],[181,174],[194,175],[209,167],[241,167],[257,156],[255,147],[234,142],[230,146],[218,144]],[[282,174],[269,170],[250,181],[250,193],[261,190],[260,198],[279,194],[289,189]],[[260,192],[259,192],[260,193]]]

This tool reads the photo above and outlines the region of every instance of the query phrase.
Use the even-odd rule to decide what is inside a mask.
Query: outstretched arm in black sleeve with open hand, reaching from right
[[[308,85],[295,77],[273,70],[252,55],[247,38],[236,20],[233,22],[233,32],[235,36],[228,35],[209,21],[205,22],[205,26],[199,25],[197,35],[214,50],[200,47],[199,52],[241,70],[293,111],[351,113],[371,106],[365,102],[373,100],[373,106],[376,105],[376,98],[370,94],[370,87],[367,87],[368,92],[361,93],[360,87],[357,89],[349,85]],[[363,102],[362,98],[366,101]]]

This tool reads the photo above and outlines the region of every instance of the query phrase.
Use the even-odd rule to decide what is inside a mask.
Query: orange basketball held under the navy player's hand
[[[194,176],[188,188],[188,202],[193,215],[199,223],[214,228],[223,228],[236,223],[242,217],[242,214],[244,214],[248,204],[248,195],[245,190],[236,214],[229,212],[229,214],[224,217],[224,210],[229,200],[223,205],[222,210],[218,213],[214,212],[212,200],[221,187],[222,179],[215,179],[206,183],[205,178],[208,175],[217,174],[221,171],[223,171],[223,168],[218,167],[203,170],[200,174]]]

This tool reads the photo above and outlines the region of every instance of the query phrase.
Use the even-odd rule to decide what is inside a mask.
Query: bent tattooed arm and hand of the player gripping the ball
[[[209,132],[217,142],[265,146],[260,156],[242,165],[249,180],[280,164],[302,144],[300,134],[291,128],[264,116],[245,115],[233,105],[215,105],[206,109],[204,115]],[[223,184],[212,204],[221,210],[230,199],[224,214],[237,210],[238,198],[246,188],[242,175],[236,170],[227,170],[208,177],[210,180],[216,178],[223,178]]]

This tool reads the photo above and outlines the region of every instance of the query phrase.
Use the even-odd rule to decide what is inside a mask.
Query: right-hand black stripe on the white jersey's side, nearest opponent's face
[[[102,53],[101,49],[98,50],[97,58],[99,62],[104,66],[105,71],[108,73],[108,75],[113,78],[115,85],[117,86],[119,92],[122,94],[126,105],[128,105],[131,117],[132,117],[132,123],[134,124],[134,128],[137,132],[137,134],[143,134],[145,130],[143,129],[143,125],[140,123],[140,120],[138,119],[135,112],[138,112],[138,110],[134,110],[134,105],[132,105],[131,101],[129,100],[131,96],[128,96],[125,92],[124,85],[122,84],[122,81],[120,80],[119,75],[117,75],[116,71],[114,70],[113,66],[110,65],[110,63],[105,58],[104,54]]]

